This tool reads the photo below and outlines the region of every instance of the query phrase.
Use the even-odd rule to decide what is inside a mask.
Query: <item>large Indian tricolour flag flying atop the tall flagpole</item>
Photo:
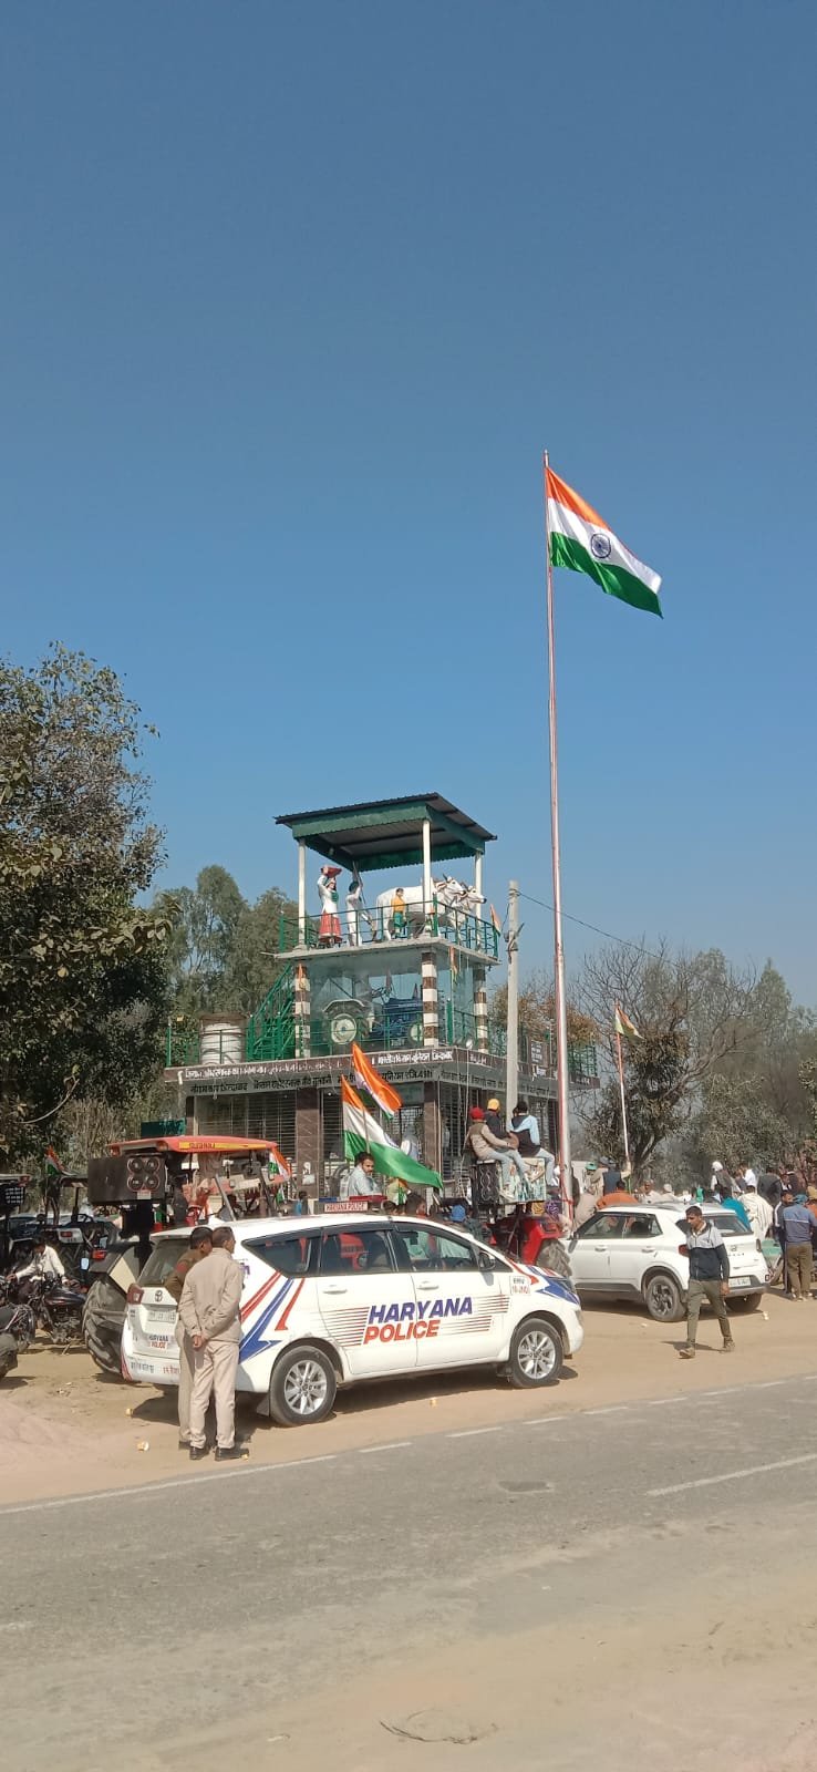
[[[581,493],[574,493],[572,486],[560,480],[558,473],[546,468],[544,480],[551,565],[587,572],[608,597],[620,597],[634,610],[652,610],[654,615],[661,615],[657,572],[631,555],[604,517],[599,517]]]

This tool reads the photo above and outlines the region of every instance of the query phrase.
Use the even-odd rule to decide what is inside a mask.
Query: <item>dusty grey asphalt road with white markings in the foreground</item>
[[[649,1667],[652,1628],[657,1644],[691,1602],[695,1620],[695,1595],[716,1591],[712,1628],[730,1644],[759,1605],[762,1639],[769,1568],[792,1554],[794,1574],[815,1547],[817,1373],[572,1416],[555,1389],[535,1421],[333,1457],[315,1428],[315,1455],[289,1465],[179,1469],[0,1510],[9,1768],[163,1772],[236,1753],[308,1768],[331,1724],[331,1765],[374,1772],[392,1765],[385,1724],[431,1703],[445,1722],[455,1696],[454,1733],[468,1714],[486,1737],[468,1751],[397,1740],[395,1765],[541,1765],[533,1717],[537,1733],[549,1719],[567,1731],[558,1768],[686,1772],[696,1749],[679,1758],[670,1742],[665,1761],[656,1721],[629,1744],[622,1717],[599,1758],[599,1715],[578,1696],[588,1678],[604,1696],[629,1632]],[[526,1731],[493,1673],[510,1692],[519,1680]]]

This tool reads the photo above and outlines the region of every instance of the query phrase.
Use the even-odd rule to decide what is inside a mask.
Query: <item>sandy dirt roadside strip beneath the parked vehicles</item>
[[[514,1421],[548,1411],[755,1384],[817,1372],[817,1302],[799,1306],[773,1294],[766,1315],[734,1318],[737,1348],[720,1352],[718,1325],[704,1318],[698,1357],[677,1357],[682,1325],[654,1324],[631,1306],[585,1311],[585,1347],[572,1373],[546,1391],[512,1391],[489,1372],[367,1384],[338,1398],[315,1428],[276,1428],[250,1407],[239,1411],[252,1458],[291,1458],[376,1446]],[[147,1442],[147,1451],[140,1444]],[[186,1474],[177,1448],[174,1393],[131,1386],[96,1370],[85,1350],[37,1343],[0,1386],[0,1503],[121,1488]]]

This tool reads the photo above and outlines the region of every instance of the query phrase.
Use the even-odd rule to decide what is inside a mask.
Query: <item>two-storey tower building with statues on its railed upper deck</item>
[[[246,1026],[209,1017],[198,1040],[168,1030],[167,1074],[190,1131],[273,1138],[300,1180],[331,1193],[338,1083],[356,1042],[402,1097],[399,1132],[455,1178],[468,1108],[505,1084],[505,1028],[487,991],[503,957],[484,893],[493,833],[441,794],[276,822],[296,843],[298,888],[264,1001]],[[549,1044],[523,1045],[519,1088],[542,1127],[553,1127],[553,1070]]]

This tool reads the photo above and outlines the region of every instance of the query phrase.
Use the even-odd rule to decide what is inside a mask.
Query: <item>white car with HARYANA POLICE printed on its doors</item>
[[[337,1386],[363,1379],[473,1364],[519,1387],[549,1384],[583,1341],[564,1279],[432,1219],[344,1212],[230,1228],[245,1271],[237,1391],[282,1425],[321,1421]],[[179,1382],[163,1279],[188,1237],[160,1233],[129,1288],[122,1370],[136,1384]]]

